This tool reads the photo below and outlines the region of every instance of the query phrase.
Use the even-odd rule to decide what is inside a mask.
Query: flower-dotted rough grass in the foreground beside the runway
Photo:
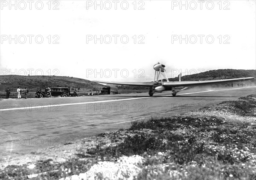
[[[123,155],[138,154],[144,157],[144,163],[137,180],[255,180],[255,99],[253,94],[215,107],[243,114],[242,122],[204,115],[203,110],[197,115],[134,121],[129,129],[99,134],[111,139],[110,146],[100,143],[86,151],[80,149],[75,158],[65,163],[38,161],[36,169],[51,172],[42,174],[43,179],[59,179],[84,173],[102,160],[113,162]],[[15,177],[17,169],[24,170],[26,166],[8,166],[4,171]]]

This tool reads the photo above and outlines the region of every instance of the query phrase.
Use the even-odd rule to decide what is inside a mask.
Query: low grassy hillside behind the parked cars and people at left
[[[18,75],[3,75],[0,76],[0,90],[17,89],[27,87],[28,89],[37,89],[45,87],[69,87],[76,89],[102,89],[104,86],[98,83],[91,82],[76,77],[66,76],[18,76]]]

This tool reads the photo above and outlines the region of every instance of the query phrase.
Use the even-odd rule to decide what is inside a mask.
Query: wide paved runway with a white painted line
[[[170,94],[116,94],[1,100],[1,159],[128,128],[131,120],[172,116],[256,92],[255,87],[188,89]]]

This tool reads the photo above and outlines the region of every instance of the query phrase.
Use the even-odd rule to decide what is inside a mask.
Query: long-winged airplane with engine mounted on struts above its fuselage
[[[93,81],[96,83],[107,83],[107,84],[117,84],[125,86],[144,86],[149,87],[149,96],[153,96],[154,93],[160,93],[163,91],[172,91],[172,96],[180,91],[183,91],[189,87],[193,86],[204,86],[209,84],[217,83],[231,83],[242,80],[252,80],[254,77],[243,77],[235,79],[224,79],[224,80],[199,80],[199,81],[169,81],[166,75],[165,65],[157,63],[153,66],[155,70],[154,81],[153,82],[108,82],[108,81]],[[160,74],[164,76],[166,81],[159,81]],[[181,89],[180,89],[181,88]]]

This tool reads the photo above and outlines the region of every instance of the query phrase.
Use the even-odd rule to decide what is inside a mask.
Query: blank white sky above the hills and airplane
[[[132,82],[152,81],[158,62],[168,77],[256,69],[255,0],[12,3],[0,1],[1,75]]]

